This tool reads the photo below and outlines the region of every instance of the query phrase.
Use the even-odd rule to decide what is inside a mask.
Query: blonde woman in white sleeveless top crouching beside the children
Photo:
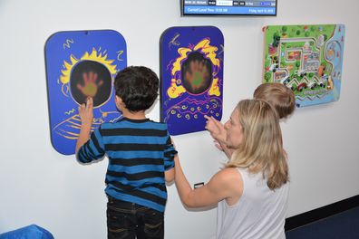
[[[175,158],[181,201],[218,204],[217,238],[285,238],[288,167],[277,111],[264,100],[241,100],[225,129],[233,154],[205,186],[192,189]]]

